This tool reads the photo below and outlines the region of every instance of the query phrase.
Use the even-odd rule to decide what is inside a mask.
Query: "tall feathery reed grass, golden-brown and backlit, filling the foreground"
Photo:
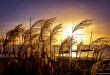
[[[94,60],[84,61],[72,58],[72,46],[78,44],[73,36],[68,36],[62,40],[60,48],[57,50],[62,56],[55,57],[53,44],[57,42],[56,35],[59,34],[62,28],[62,24],[58,24],[52,29],[55,19],[41,19],[33,25],[30,24],[29,29],[25,29],[22,24],[19,24],[6,33],[6,38],[0,40],[1,54],[3,52],[8,54],[8,60],[2,57],[4,63],[3,75],[16,73],[23,73],[24,75],[85,75],[86,72],[91,70]],[[87,19],[80,22],[72,29],[72,33],[90,26],[92,21]],[[95,62],[102,59],[103,50],[109,41],[108,37],[102,37],[90,44]],[[82,47],[83,42],[81,41],[77,45],[76,58],[78,55],[81,58]],[[66,51],[71,57],[64,56]],[[100,54],[99,51],[101,51]],[[84,71],[87,69],[88,71]]]

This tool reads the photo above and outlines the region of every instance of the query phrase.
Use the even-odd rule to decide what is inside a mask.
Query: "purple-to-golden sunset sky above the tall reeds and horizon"
[[[110,0],[0,0],[0,34],[18,24],[29,27],[40,19],[56,17],[55,24],[63,24],[62,38],[71,32],[71,26],[85,19],[95,19],[92,26],[85,28],[83,38],[110,36]],[[88,43],[88,42],[86,42]]]

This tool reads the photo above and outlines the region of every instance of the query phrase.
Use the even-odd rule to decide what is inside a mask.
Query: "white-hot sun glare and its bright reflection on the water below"
[[[66,29],[63,30],[62,40],[64,40],[67,36],[73,36],[74,40],[77,42],[77,44],[79,44],[81,41],[83,41],[83,35],[84,35],[84,31],[82,29],[72,33],[72,24],[68,24],[68,27],[66,27]],[[74,51],[77,50],[77,44],[74,44],[72,46],[72,50]],[[63,56],[65,56],[65,54]],[[72,52],[70,56],[76,57],[76,52]],[[78,56],[79,55],[77,55],[77,57]]]

